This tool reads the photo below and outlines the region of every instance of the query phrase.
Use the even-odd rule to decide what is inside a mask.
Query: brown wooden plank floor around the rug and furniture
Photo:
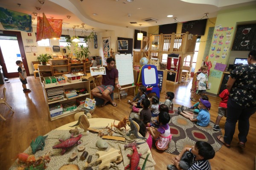
[[[0,170],[7,170],[13,164],[15,156],[22,153],[29,147],[32,139],[39,135],[44,135],[49,131],[73,122],[74,116],[66,116],[61,119],[49,121],[47,114],[47,105],[44,101],[43,90],[39,79],[28,77],[27,87],[32,90],[31,93],[24,94],[21,82],[18,78],[9,79],[10,83],[0,85],[0,97],[3,97],[3,88],[6,87],[6,95],[8,103],[13,107],[15,113],[9,110],[5,105],[0,105],[0,113],[7,119],[0,119]],[[178,105],[191,106],[190,97],[191,82],[181,82],[172,85],[167,82],[166,91],[175,93],[174,103]],[[165,93],[160,95],[160,101],[165,101]],[[132,99],[130,94],[127,99],[115,100],[117,107],[106,105],[105,107],[97,107],[93,113],[93,117],[103,117],[121,120],[125,115],[129,115],[131,109],[127,103],[128,99]],[[218,113],[219,97],[209,96],[212,104],[210,110],[211,120],[215,122]],[[225,118],[221,119],[220,127],[224,129]],[[222,130],[224,133],[224,130]],[[212,170],[254,170],[256,156],[256,114],[250,118],[250,131],[247,136],[246,148],[240,150],[236,146],[238,143],[238,130],[234,135],[231,148],[222,146],[216,152],[215,157],[210,160]],[[175,156],[169,153],[160,152],[152,148],[152,156],[156,161],[156,170],[165,170],[166,165],[171,163],[171,159]]]

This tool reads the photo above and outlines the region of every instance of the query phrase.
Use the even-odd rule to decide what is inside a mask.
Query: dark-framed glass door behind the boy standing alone
[[[29,75],[29,68],[26,61],[25,51],[20,32],[0,31],[0,64],[3,74],[7,78],[18,77],[18,66],[16,61],[21,60],[23,67]]]

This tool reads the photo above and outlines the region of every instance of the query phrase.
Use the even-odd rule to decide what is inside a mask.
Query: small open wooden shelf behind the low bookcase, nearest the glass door
[[[55,77],[70,73],[68,59],[50,59],[50,65],[52,65],[52,72]]]

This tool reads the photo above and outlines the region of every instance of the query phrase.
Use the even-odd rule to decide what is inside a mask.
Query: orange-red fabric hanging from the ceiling
[[[61,37],[61,31],[62,20],[47,19],[44,13],[43,17],[38,17],[36,41],[47,38],[59,38]]]

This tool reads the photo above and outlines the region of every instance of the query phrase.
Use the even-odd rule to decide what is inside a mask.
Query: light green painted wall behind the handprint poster
[[[256,22],[256,5],[245,6],[245,7],[235,8],[235,9],[233,8],[232,10],[219,11],[215,26],[221,25],[222,28],[233,27],[233,32],[230,37],[230,46],[231,46],[236,34],[236,26],[240,24],[253,23],[253,22],[254,23]],[[217,32],[215,30],[213,34],[215,33],[220,33],[220,32]],[[213,40],[214,40],[214,37],[212,37],[212,41]],[[216,45],[216,49],[217,49],[217,46],[218,45]],[[209,55],[210,54],[212,54],[211,49],[209,50]],[[210,69],[210,75],[211,75],[211,72],[214,71],[215,65],[213,65],[213,62],[216,61],[222,64],[227,64],[229,60],[229,54],[230,54],[230,50],[227,51],[227,56],[224,59],[222,59],[221,57],[219,59],[215,59],[215,57],[211,59],[212,68]],[[222,72],[221,72],[221,75],[222,75]],[[212,94],[218,94],[218,89],[221,84],[221,78],[215,78],[215,77],[209,76],[208,82],[211,82],[212,85],[211,85],[211,89],[207,90],[207,92]]]

